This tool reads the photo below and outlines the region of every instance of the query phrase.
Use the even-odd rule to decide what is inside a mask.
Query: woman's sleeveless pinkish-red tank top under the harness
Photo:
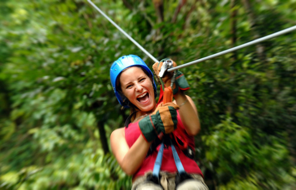
[[[187,143],[190,147],[194,148],[194,137],[189,136],[184,128],[184,125],[181,121],[179,112],[177,110],[177,119],[178,119],[178,125],[177,127],[181,129],[182,133],[184,133],[184,137],[187,138]],[[136,123],[130,123],[128,127],[125,128],[125,137],[126,137],[126,142],[129,147],[133,145],[133,143],[139,138],[141,135],[138,122]],[[143,176],[146,172],[152,171],[154,167],[154,163],[156,160],[157,152],[160,148],[160,145],[157,146],[156,150],[154,151],[151,155],[145,158],[144,162],[142,163],[141,167],[139,170],[133,175],[133,178],[137,178],[139,176]],[[184,167],[184,170],[187,173],[196,173],[202,175],[202,172],[200,168],[198,167],[197,163],[193,160],[187,157],[182,150],[175,145],[176,151],[178,153],[178,156],[180,157],[181,163]],[[163,161],[160,170],[166,171],[166,172],[171,172],[174,173],[177,171],[177,167],[174,161],[173,153],[171,147],[165,148],[163,151]]]

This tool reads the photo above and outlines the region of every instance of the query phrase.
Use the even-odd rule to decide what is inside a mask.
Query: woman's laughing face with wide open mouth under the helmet
[[[128,100],[141,111],[151,111],[155,106],[152,81],[137,66],[124,70],[119,78],[121,90]]]

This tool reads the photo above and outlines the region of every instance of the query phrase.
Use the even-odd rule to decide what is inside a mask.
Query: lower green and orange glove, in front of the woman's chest
[[[177,109],[179,106],[169,102],[160,104],[149,116],[139,121],[141,134],[147,142],[152,142],[160,133],[169,134],[177,128]]]

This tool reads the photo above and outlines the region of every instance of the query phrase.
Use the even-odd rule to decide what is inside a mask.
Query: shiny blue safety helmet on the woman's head
[[[126,69],[130,66],[141,66],[143,69],[145,69],[152,76],[154,97],[156,97],[156,95],[157,95],[156,84],[153,79],[153,73],[149,69],[149,67],[145,64],[145,62],[140,57],[135,56],[135,55],[122,56],[118,60],[114,61],[114,63],[112,64],[112,66],[110,68],[110,79],[111,79],[112,87],[113,87],[113,90],[114,90],[114,93],[115,93],[115,96],[116,96],[118,102],[125,108],[130,107],[128,105],[129,101],[126,101],[127,98],[120,91],[118,91],[118,89],[116,89],[117,88],[116,81],[117,81],[119,74],[124,69]]]

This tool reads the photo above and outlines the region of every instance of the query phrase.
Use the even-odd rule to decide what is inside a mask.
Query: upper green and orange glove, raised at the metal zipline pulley
[[[161,69],[161,66],[163,66],[163,62],[168,60],[169,58],[165,58],[163,60],[161,60],[160,62],[156,62],[155,64],[153,64],[152,68],[155,72],[155,74],[159,75],[159,72],[160,72],[160,69]],[[170,59],[171,61],[173,61],[172,59]],[[176,67],[177,64],[175,61],[173,61],[173,67]],[[189,87],[189,84],[184,76],[184,74],[181,72],[181,71],[176,71],[177,74],[176,74],[176,81],[173,85],[173,95],[176,95],[180,90],[181,91],[186,91],[188,90],[190,87]],[[165,76],[162,77],[162,80],[165,84],[165,87],[169,87],[170,86],[170,82],[171,82],[171,78],[173,77],[173,72],[166,72]]]

